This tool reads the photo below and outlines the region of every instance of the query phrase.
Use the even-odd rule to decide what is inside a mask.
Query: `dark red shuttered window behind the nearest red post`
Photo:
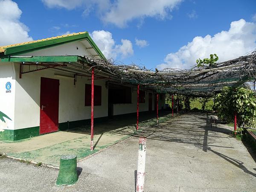
[[[85,106],[91,105],[92,85],[85,84]],[[101,105],[101,86],[94,85],[94,105]]]

